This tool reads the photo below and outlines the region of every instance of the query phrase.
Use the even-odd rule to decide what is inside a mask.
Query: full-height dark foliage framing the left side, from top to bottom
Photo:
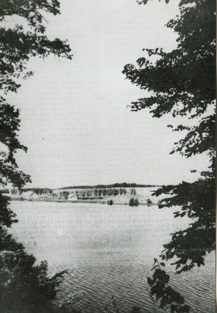
[[[47,57],[49,54],[72,59],[67,41],[49,40],[45,32],[42,12],[60,14],[57,0],[10,0],[0,2],[0,22],[12,16],[15,22],[0,27],[0,185],[12,184],[22,190],[31,182],[29,175],[18,170],[14,154],[18,149],[27,152],[17,138],[19,110],[6,103],[8,91],[17,92],[20,76],[28,77],[25,65],[31,56]],[[26,25],[22,27],[20,23]],[[19,24],[17,24],[19,23]],[[35,265],[35,257],[24,251],[6,227],[17,223],[16,214],[9,208],[9,198],[0,193],[0,311],[1,312],[51,312],[49,301],[54,299],[57,286],[66,271],[52,277],[47,275],[47,262]]]

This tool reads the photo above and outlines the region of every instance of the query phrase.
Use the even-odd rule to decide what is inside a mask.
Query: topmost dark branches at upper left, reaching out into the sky
[[[56,0],[3,0],[0,3],[0,21],[5,16],[19,15],[28,22],[29,30],[24,31],[22,25],[13,29],[0,28],[0,89],[7,93],[17,91],[20,87],[14,78],[20,77],[26,62],[31,56],[47,57],[55,54],[58,57],[72,59],[71,49],[67,41],[56,38],[50,41],[43,35],[45,26],[40,12],[46,11],[54,15],[60,14],[59,2]],[[41,35],[39,35],[41,34]],[[24,77],[32,75],[27,72]]]

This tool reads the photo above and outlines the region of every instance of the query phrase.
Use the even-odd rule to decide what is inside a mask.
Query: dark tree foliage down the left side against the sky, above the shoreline
[[[13,29],[0,27],[0,90],[5,94],[10,90],[16,92],[20,84],[14,79],[20,77],[25,69],[25,64],[31,56],[47,57],[49,54],[58,57],[72,58],[68,44],[60,39],[50,41],[43,34],[45,27],[42,23],[42,10],[59,14],[59,2],[57,0],[2,0],[0,3],[0,21],[5,16],[17,15],[27,21],[28,30],[24,31],[22,25],[15,25]],[[32,72],[25,76],[32,75]],[[31,182],[30,176],[17,171],[17,163],[14,153],[17,149],[27,152],[27,147],[17,140],[20,120],[19,111],[6,104],[0,95],[0,141],[8,148],[8,152],[1,151],[0,156],[0,184],[5,186],[7,182],[19,189],[27,182]],[[7,149],[6,149],[7,150]]]

